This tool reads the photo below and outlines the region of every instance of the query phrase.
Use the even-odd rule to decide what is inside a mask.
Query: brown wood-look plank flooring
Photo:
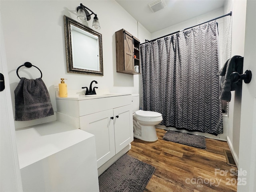
[[[134,138],[130,156],[156,168],[144,192],[236,192],[237,168],[226,163],[227,142],[206,138],[206,149],[163,140]]]

